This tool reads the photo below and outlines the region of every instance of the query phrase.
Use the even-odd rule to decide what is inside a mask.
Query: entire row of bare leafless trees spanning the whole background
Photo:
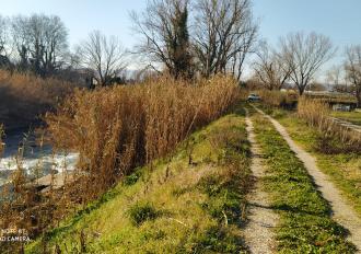
[[[108,85],[124,81],[127,58],[139,56],[147,62],[139,77],[167,72],[175,79],[197,79],[224,73],[241,82],[245,61],[254,55],[252,69],[260,84],[280,90],[294,83],[303,94],[336,53],[331,41],[317,33],[291,33],[277,47],[268,45],[258,38],[252,0],[148,0],[130,19],[139,37],[132,49],[93,31],[70,51],[68,30],[59,16],[0,16],[0,68],[40,77],[82,71],[98,85]],[[361,45],[348,47],[342,67],[336,69],[328,80],[354,93],[361,105]],[[339,84],[340,73],[348,89]]]

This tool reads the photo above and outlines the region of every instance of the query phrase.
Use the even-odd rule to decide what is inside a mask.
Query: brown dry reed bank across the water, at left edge
[[[79,85],[0,70],[0,123],[5,129],[26,127],[74,86]]]

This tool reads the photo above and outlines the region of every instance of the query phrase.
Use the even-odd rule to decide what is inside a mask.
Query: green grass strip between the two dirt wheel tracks
[[[303,163],[268,120],[259,114],[254,119],[267,166],[264,184],[271,208],[280,215],[276,230],[279,253],[354,253]]]

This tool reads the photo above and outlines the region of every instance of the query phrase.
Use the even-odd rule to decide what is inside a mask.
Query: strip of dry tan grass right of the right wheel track
[[[331,111],[327,103],[305,97],[299,100],[299,117],[306,120],[310,126],[316,127],[323,134],[324,141],[336,138],[345,145],[345,148],[360,147],[361,135],[336,123],[330,114]]]

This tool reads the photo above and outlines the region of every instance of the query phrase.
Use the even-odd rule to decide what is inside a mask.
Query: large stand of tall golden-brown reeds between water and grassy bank
[[[46,120],[56,148],[80,152],[86,189],[81,193],[94,198],[221,116],[237,94],[236,82],[226,77],[196,84],[163,77],[138,85],[78,91]]]

